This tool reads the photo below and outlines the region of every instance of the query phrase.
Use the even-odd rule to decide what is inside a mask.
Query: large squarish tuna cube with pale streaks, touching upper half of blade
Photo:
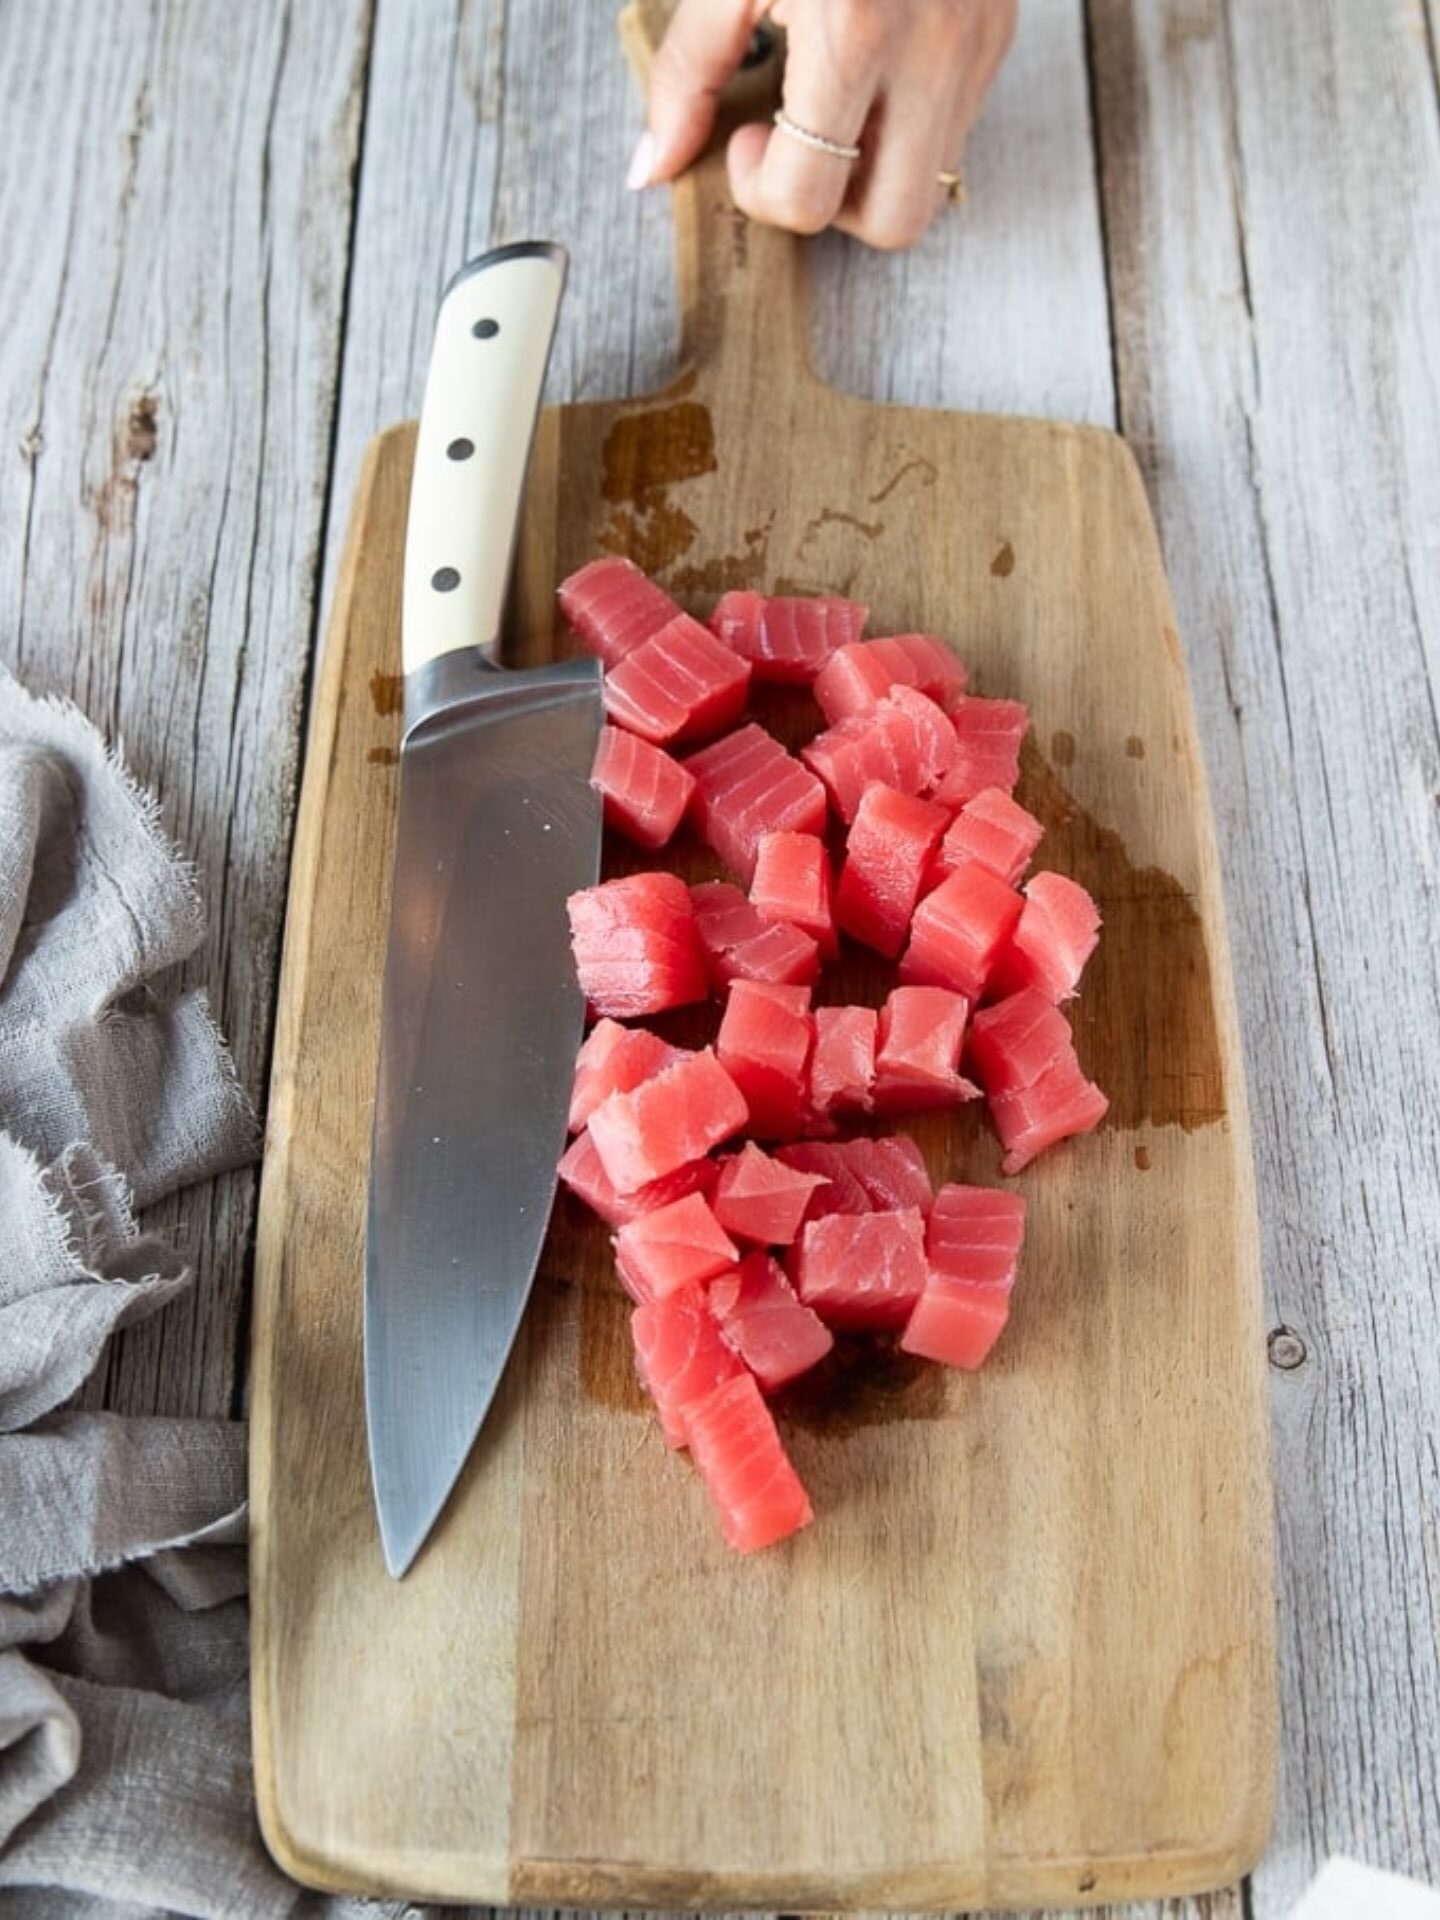
[[[607,879],[564,904],[580,991],[597,1014],[626,1020],[708,996],[695,908],[678,876]]]

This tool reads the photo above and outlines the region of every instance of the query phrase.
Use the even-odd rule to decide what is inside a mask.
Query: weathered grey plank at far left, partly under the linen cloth
[[[196,858],[263,1094],[334,407],[363,0],[0,12],[0,645],[123,739]],[[255,1177],[156,1208],[202,1275],[109,1405],[230,1411]]]

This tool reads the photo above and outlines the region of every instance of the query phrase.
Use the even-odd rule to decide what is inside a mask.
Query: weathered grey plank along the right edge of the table
[[[1417,6],[1096,0],[1121,420],[1219,799],[1271,1296],[1279,1920],[1440,1878],[1440,117]],[[1398,182],[1404,186],[1398,188]]]

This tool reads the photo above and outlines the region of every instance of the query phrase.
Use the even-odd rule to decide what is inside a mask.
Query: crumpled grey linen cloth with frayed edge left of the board
[[[246,1434],[67,1409],[192,1284],[132,1208],[253,1160],[200,895],[71,707],[0,668],[0,1912],[376,1908],[269,1860],[250,1774]],[[394,1910],[394,1908],[388,1908]]]

